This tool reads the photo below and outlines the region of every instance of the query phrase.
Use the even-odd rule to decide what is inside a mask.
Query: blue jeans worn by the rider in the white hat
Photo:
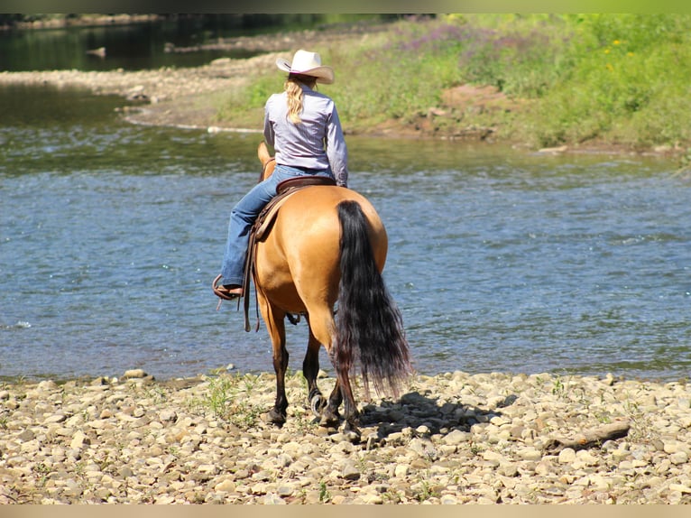
[[[230,212],[228,223],[228,240],[226,254],[223,256],[221,267],[222,284],[242,284],[244,273],[244,258],[250,239],[253,223],[271,199],[276,196],[276,187],[282,180],[297,176],[327,176],[334,178],[330,169],[304,170],[287,165],[277,165],[272,175],[256,184],[252,190]]]

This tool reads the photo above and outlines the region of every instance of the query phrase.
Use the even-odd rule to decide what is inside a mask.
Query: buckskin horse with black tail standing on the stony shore
[[[275,161],[264,143],[258,156],[263,180],[272,174]],[[358,371],[367,393],[373,384],[377,392],[398,395],[412,367],[401,312],[382,278],[387,248],[382,220],[355,190],[312,185],[283,200],[271,230],[253,250],[254,287],[276,372],[272,422],[286,421],[285,319],[290,315],[304,315],[309,325],[302,370],[310,405],[323,424],[338,426],[343,402],[345,430],[359,433],[351,384]],[[336,371],[328,400],[317,385],[320,346]]]

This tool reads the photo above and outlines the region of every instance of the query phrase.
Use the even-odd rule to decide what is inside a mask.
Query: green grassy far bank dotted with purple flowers
[[[447,14],[318,51],[336,69],[322,91],[352,133],[396,125],[536,148],[680,151],[691,144],[689,40],[688,14]],[[257,125],[281,83],[273,70],[219,99],[219,120]]]

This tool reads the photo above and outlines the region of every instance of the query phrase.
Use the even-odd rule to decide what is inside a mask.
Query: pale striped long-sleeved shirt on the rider
[[[275,150],[276,163],[317,170],[330,166],[336,183],[347,187],[348,151],[336,105],[324,94],[300,87],[302,122],[290,122],[286,92],[273,94],[264,106],[264,139]]]

